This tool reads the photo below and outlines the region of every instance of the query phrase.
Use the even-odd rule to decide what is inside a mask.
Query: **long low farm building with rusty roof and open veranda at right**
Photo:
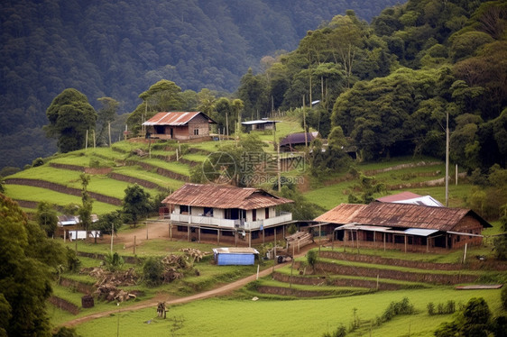
[[[426,205],[373,202],[337,205],[318,216],[319,227],[345,246],[435,251],[479,245],[491,227],[474,211]]]

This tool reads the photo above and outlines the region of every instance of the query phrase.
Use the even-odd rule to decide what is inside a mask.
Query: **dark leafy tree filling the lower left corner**
[[[58,262],[58,255],[52,256],[51,246],[47,252],[39,250],[38,242],[47,239],[37,225],[28,227],[21,208],[0,195],[0,333],[9,336],[43,336],[51,329],[45,308],[51,294],[51,271],[42,260]]]

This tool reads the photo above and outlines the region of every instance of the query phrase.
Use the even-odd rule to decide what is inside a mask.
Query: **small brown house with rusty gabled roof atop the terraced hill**
[[[191,140],[209,136],[209,125],[216,122],[200,112],[155,114],[143,125],[146,135],[163,140]]]

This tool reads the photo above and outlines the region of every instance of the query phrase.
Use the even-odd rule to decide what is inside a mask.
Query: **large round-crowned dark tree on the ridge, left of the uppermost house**
[[[46,110],[50,123],[44,127],[46,135],[58,140],[62,153],[82,149],[86,133],[95,129],[97,113],[87,96],[69,88],[56,96]]]

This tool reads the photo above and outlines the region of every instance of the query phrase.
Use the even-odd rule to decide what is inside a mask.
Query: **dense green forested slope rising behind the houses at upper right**
[[[469,172],[505,168],[507,4],[410,0],[371,24],[347,11],[265,72],[247,72],[238,94],[247,115],[321,100],[308,125],[366,160],[444,159],[448,114],[452,163]]]

